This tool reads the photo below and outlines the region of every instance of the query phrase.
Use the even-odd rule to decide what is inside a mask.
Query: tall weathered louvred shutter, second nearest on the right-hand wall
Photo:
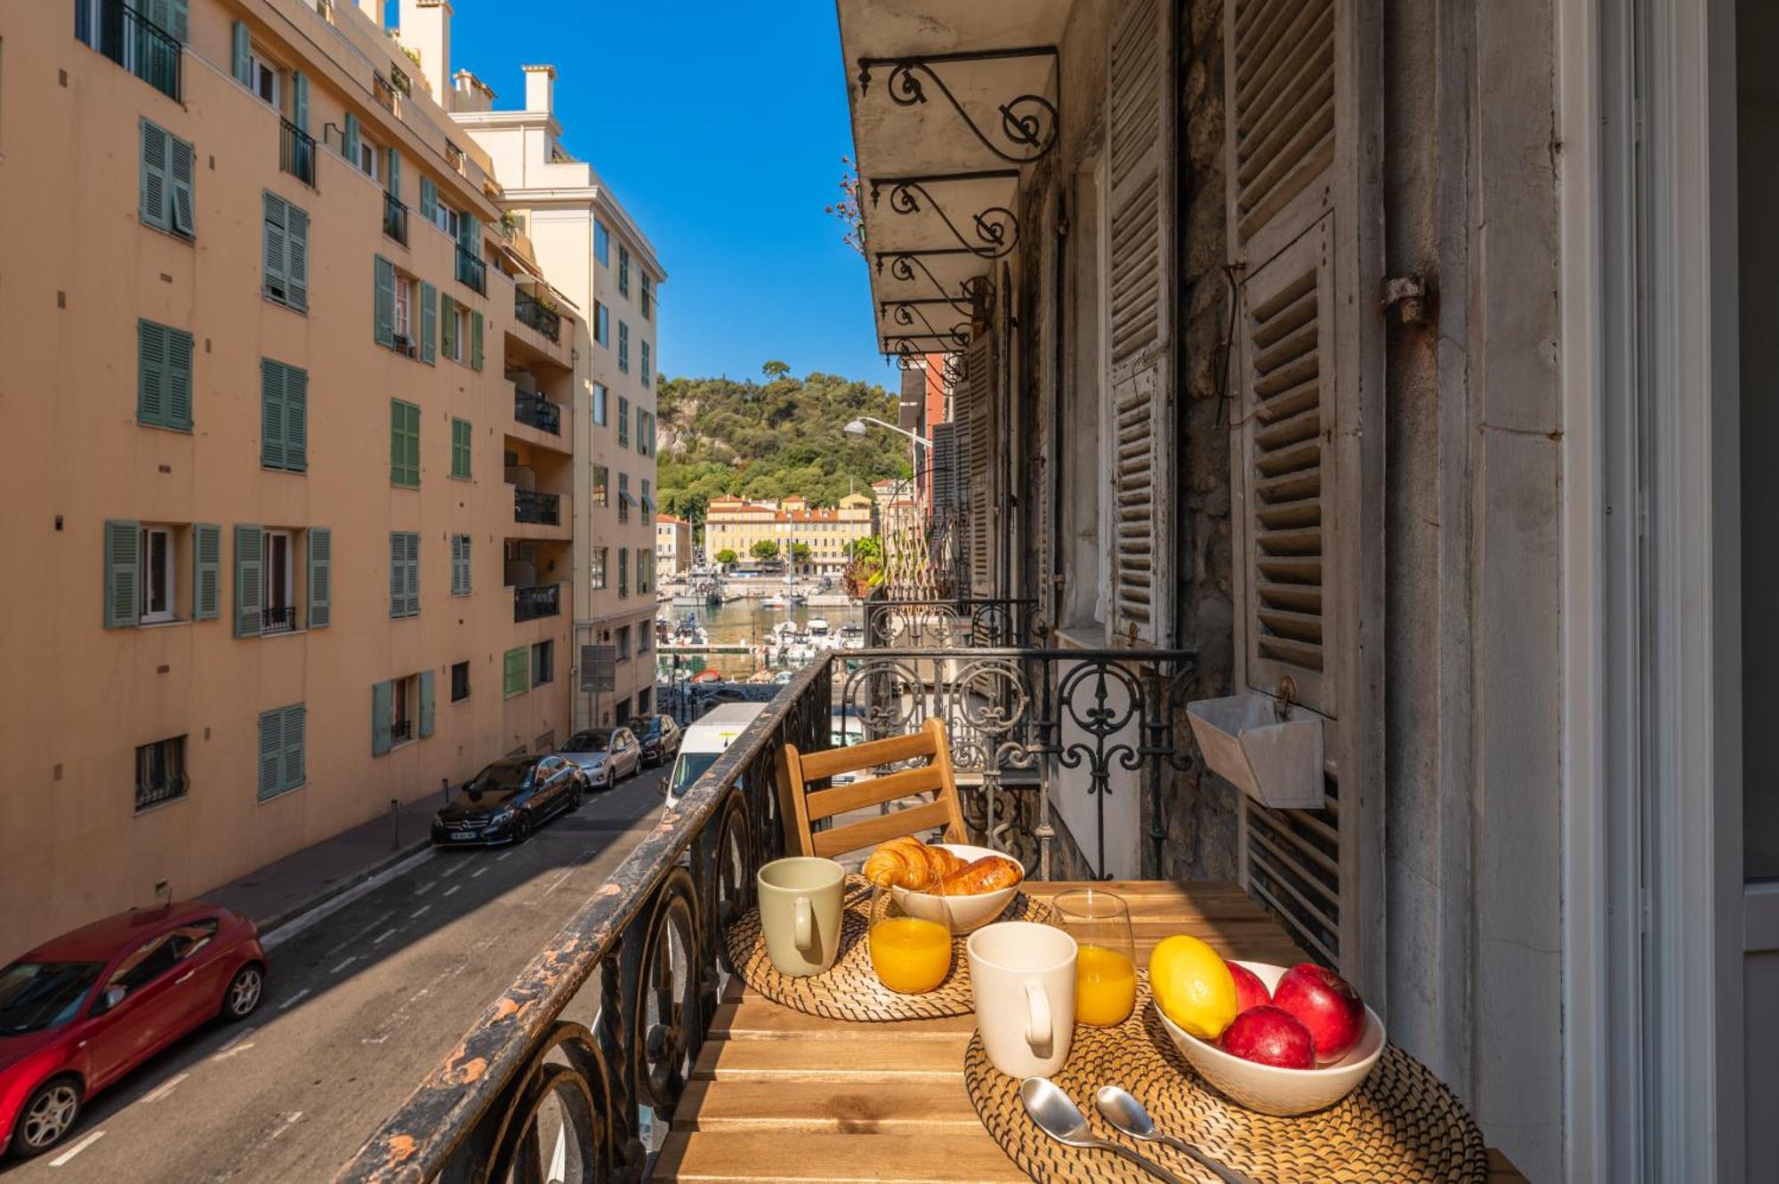
[[[1115,644],[1172,638],[1174,5],[1119,0],[1107,66],[1107,343]]]

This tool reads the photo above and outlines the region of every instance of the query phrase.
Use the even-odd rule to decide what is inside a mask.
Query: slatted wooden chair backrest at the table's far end
[[[850,786],[809,789],[809,782],[856,773],[879,764],[898,764],[927,757],[925,764],[897,770],[882,777],[857,780]],[[964,843],[964,814],[957,805],[957,775],[952,770],[952,745],[945,738],[945,722],[938,718],[909,736],[872,740],[845,748],[824,748],[804,756],[797,745],[779,752],[779,812],[785,816],[786,846],[799,855],[834,857],[888,839],[920,834],[945,827],[946,843]],[[882,805],[916,793],[932,793],[923,802],[904,811],[890,811],[843,827],[815,830],[813,823],[866,805]]]

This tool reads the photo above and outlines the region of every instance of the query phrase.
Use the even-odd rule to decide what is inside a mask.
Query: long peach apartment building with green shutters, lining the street
[[[578,318],[365,7],[0,7],[0,960],[571,724]]]

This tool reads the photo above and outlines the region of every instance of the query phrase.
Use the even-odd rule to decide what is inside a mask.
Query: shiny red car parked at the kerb
[[[265,994],[253,921],[201,901],[137,908],[0,969],[0,1156],[46,1152],[80,1106],[155,1052]]]

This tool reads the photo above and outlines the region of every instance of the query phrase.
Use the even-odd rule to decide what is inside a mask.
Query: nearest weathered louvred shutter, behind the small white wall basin
[[[1381,875],[1382,252],[1364,158],[1381,119],[1377,46],[1352,0],[1231,0],[1224,48],[1226,226],[1244,265],[1229,448],[1236,686],[1288,686],[1322,715],[1329,766],[1320,811],[1244,800],[1240,868],[1300,946],[1375,990],[1359,887]]]

